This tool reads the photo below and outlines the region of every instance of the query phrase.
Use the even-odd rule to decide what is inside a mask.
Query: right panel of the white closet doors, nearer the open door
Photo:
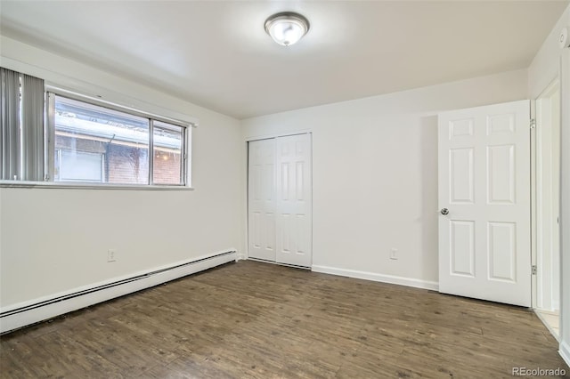
[[[275,139],[276,262],[312,262],[311,134]]]

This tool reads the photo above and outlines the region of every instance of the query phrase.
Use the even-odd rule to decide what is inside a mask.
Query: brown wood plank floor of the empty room
[[[2,378],[512,378],[570,369],[532,311],[228,263],[0,337]]]

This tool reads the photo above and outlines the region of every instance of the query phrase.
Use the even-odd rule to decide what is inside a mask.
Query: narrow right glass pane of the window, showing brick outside
[[[154,121],[152,181],[183,184],[183,127]]]

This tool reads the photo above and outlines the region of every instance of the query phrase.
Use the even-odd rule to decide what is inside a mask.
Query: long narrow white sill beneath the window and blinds
[[[146,184],[93,184],[77,181],[0,181],[0,188],[25,189],[128,189],[128,190],[193,190],[191,187]]]

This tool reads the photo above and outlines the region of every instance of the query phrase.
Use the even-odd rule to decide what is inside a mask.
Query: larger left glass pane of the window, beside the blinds
[[[61,96],[54,113],[55,181],[149,183],[147,118]]]

